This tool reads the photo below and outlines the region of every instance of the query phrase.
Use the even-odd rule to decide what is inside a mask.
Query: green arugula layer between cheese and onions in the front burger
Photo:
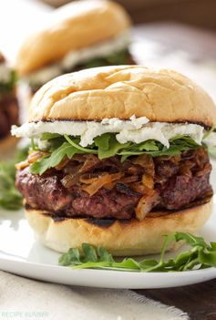
[[[80,146],[79,137],[61,136],[52,133],[45,133],[42,139],[47,139],[50,155],[37,160],[30,166],[30,170],[34,174],[43,174],[47,169],[56,167],[57,164],[67,157],[71,159],[74,154],[92,153],[97,154],[99,159],[110,158],[115,155],[121,156],[121,161],[131,156],[139,156],[140,154],[148,154],[151,157],[159,156],[176,156],[182,151],[196,149],[199,145],[190,137],[177,136],[170,139],[170,148],[164,147],[157,140],[147,140],[136,144],[127,142],[121,144],[116,139],[115,133],[105,133],[94,139],[94,143],[87,148]],[[38,148],[33,145],[34,150]],[[67,147],[67,148],[66,148]],[[203,146],[205,148],[205,146]]]

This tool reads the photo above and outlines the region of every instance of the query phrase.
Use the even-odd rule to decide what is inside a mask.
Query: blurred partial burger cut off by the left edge
[[[17,139],[10,135],[12,124],[18,124],[15,71],[0,53],[0,150],[9,150]]]

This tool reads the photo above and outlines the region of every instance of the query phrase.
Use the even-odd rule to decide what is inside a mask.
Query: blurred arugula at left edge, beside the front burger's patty
[[[15,163],[26,159],[27,149],[17,150],[15,159],[0,162],[0,207],[18,210],[23,205],[23,197],[15,188]]]

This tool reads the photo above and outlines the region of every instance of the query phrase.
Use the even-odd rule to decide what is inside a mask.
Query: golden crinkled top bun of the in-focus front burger
[[[169,69],[95,67],[57,77],[36,92],[29,121],[147,117],[211,127],[216,108],[208,94]]]

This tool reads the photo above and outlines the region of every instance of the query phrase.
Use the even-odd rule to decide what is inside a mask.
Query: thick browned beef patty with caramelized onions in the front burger
[[[122,178],[89,194],[80,176],[100,177],[101,172],[121,172]],[[47,170],[41,176],[30,173],[29,167],[18,170],[16,186],[35,209],[57,216],[120,220],[134,217],[143,197],[152,199],[149,210],[179,210],[206,198],[212,194],[210,173],[208,152],[202,148],[178,157],[143,155],[123,163],[118,156],[98,160],[94,155],[77,155],[63,168]],[[72,181],[66,183],[71,176]]]

